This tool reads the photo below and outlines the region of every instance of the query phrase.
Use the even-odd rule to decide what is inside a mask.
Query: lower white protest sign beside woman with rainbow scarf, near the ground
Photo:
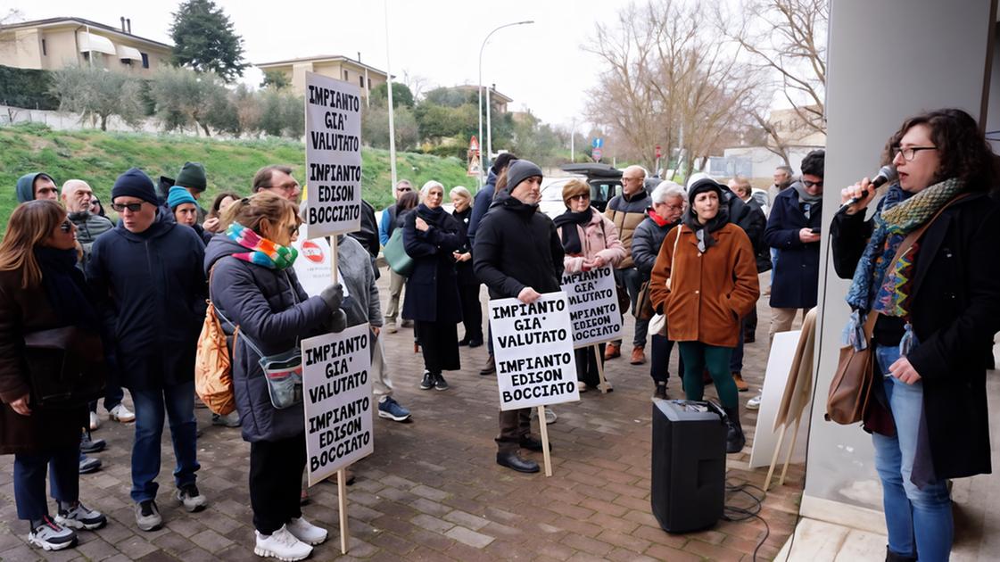
[[[302,340],[309,485],[375,450],[368,324]]]

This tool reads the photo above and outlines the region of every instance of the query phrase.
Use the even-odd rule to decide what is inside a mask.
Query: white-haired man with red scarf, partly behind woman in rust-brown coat
[[[663,239],[671,229],[681,223],[684,204],[687,201],[687,191],[684,187],[672,181],[660,182],[650,196],[652,208],[647,211],[646,220],[635,229],[632,236],[632,259],[635,267],[645,282],[649,279],[660,254]],[[653,377],[656,390],[653,398],[667,398],[667,381],[670,379],[670,352],[674,342],[665,335],[653,334],[651,363],[649,375]],[[681,368],[678,373],[683,375]]]

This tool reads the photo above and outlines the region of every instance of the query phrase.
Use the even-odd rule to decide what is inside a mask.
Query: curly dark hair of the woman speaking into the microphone
[[[931,130],[931,142],[938,148],[941,165],[934,181],[957,178],[970,191],[993,187],[994,155],[986,136],[971,115],[961,109],[937,109],[910,117],[885,145],[884,163],[891,163],[903,135],[916,125]]]

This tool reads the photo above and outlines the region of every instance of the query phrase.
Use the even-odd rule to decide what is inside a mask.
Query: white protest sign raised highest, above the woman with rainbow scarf
[[[361,90],[306,72],[307,238],[361,229]]]

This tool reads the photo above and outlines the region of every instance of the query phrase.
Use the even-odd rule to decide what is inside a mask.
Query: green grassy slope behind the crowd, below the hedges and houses
[[[465,175],[464,163],[457,158],[442,159],[422,154],[396,155],[400,178],[418,187],[435,179],[450,188],[474,185]],[[362,193],[376,209],[392,201],[389,153],[362,150]],[[215,194],[232,190],[247,194],[254,172],[266,164],[281,163],[295,168],[299,181],[305,178],[305,147],[281,140],[217,141],[205,138],[143,133],[101,131],[53,131],[43,125],[28,124],[0,128],[0,232],[17,205],[14,186],[17,178],[31,171],[51,174],[57,184],[71,179],[86,180],[108,208],[115,178],[135,166],[153,181],[160,175],[174,177],[186,161],[201,162],[208,175],[208,191],[202,206],[211,205]],[[470,181],[471,180],[471,181]]]

